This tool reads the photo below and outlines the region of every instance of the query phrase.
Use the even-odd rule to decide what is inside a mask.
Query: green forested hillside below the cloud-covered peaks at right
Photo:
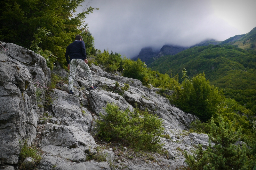
[[[179,74],[187,69],[189,77],[205,73],[212,85],[223,89],[226,97],[256,112],[256,55],[235,46],[193,47],[174,56],[163,56],[149,67],[160,73]]]

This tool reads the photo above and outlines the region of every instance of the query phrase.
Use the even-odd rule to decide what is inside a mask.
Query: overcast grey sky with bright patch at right
[[[85,18],[95,48],[128,58],[143,47],[222,41],[256,26],[256,0],[92,0],[89,6],[100,8]]]

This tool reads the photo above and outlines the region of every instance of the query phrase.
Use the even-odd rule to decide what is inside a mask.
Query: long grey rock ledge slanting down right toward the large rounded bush
[[[148,108],[148,111],[169,122],[173,129],[188,129],[188,125],[196,119],[196,116],[172,106],[168,99],[144,86],[140,89],[130,87],[128,91],[124,92],[124,99],[133,106],[137,103],[141,110]]]

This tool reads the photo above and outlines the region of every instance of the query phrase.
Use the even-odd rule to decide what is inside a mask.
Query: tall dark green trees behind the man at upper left
[[[98,8],[85,7],[84,0],[3,0],[0,2],[0,39],[35,50],[51,68],[54,60],[65,64],[65,51],[76,34],[84,37],[87,54],[94,54],[93,37],[86,30],[86,15]],[[86,9],[87,8],[87,9]]]

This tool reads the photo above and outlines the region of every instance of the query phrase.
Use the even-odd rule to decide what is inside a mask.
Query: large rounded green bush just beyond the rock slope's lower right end
[[[205,75],[197,74],[192,80],[187,79],[183,71],[184,81],[177,95],[170,96],[170,100],[181,110],[192,113],[202,121],[209,120],[217,113],[217,106],[222,105],[225,96],[221,90],[210,85]]]

